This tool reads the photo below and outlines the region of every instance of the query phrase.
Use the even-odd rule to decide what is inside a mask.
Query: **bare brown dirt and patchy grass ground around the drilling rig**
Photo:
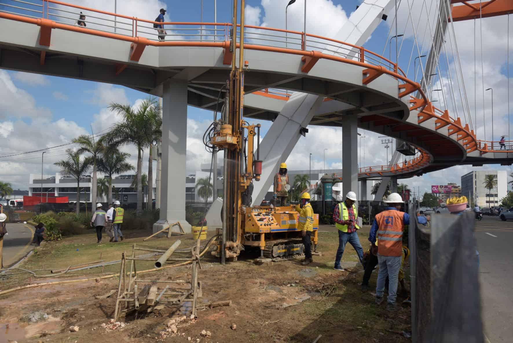
[[[368,247],[369,227],[363,227],[360,241]],[[119,318],[124,328],[109,331],[102,323],[109,323],[114,313],[115,295],[97,300],[94,296],[117,290],[118,277],[101,282],[57,284],[35,287],[0,296],[0,343],[18,342],[405,342],[403,330],[410,330],[409,308],[398,312],[385,310],[385,303],[377,307],[373,293],[377,271],[373,272],[369,291],[362,293],[360,283],[363,270],[357,265],[357,256],[348,244],[343,257],[344,271],[333,270],[338,234],[334,226],[319,228],[318,250],[322,257],[314,256],[314,263],[302,266],[298,260],[255,265],[255,254],[247,252],[240,260],[222,266],[217,259],[205,254],[199,280],[203,282],[202,303],[232,300],[230,307],[219,307],[198,312],[197,320],[186,319],[177,325],[177,332],[161,335],[168,329],[171,318],[188,315],[187,309],[167,306],[146,316],[133,315]],[[49,242],[39,247],[21,266],[34,270],[65,268],[68,265],[120,259],[121,252],[131,253],[137,246],[166,248],[177,238],[159,238],[142,242],[148,233],[126,232],[123,242],[93,243],[92,233]],[[213,233],[209,232],[209,237]],[[181,248],[192,246],[191,235],[180,237]],[[140,252],[141,254],[145,252]],[[102,257],[100,258],[100,254]],[[186,256],[185,254],[181,254]],[[120,264],[108,266],[104,274],[119,273]],[[137,264],[138,270],[152,268],[152,262]],[[145,279],[170,280],[190,278],[190,265],[169,268],[145,274]],[[81,273],[81,276],[73,274]],[[91,269],[65,277],[30,280],[26,274],[10,278],[0,277],[0,290],[30,283],[50,282],[73,278],[100,276],[100,269]],[[16,283],[13,283],[16,282]],[[302,302],[301,298],[307,297]],[[402,301],[404,297],[398,298]],[[283,304],[293,304],[284,307]],[[41,319],[37,319],[41,315]],[[35,320],[34,320],[35,319]],[[7,328],[6,325],[9,325]],[[235,330],[231,329],[236,325]],[[70,332],[78,326],[78,332]],[[202,330],[211,336],[201,335]],[[171,330],[169,330],[171,331]],[[207,333],[208,335],[208,333]],[[190,337],[190,340],[188,339]]]

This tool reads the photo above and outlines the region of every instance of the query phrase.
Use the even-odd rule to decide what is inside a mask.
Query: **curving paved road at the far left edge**
[[[32,249],[32,237],[34,229],[25,224],[7,224],[9,235],[4,236],[4,267],[10,266],[21,260]]]

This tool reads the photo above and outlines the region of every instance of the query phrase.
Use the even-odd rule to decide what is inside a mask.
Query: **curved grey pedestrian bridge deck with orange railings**
[[[86,11],[87,27],[76,25],[80,11]],[[160,41],[153,24],[55,0],[0,0],[0,68],[118,84],[160,97],[166,81],[181,83],[188,105],[219,108],[231,56],[240,47],[230,42],[232,25],[164,23],[168,34]],[[269,89],[315,94],[323,101],[312,107],[309,125],[343,126],[345,117],[357,116],[358,127],[419,150],[406,164],[362,167],[359,178],[406,178],[456,164],[511,164],[513,142],[501,149],[497,141],[480,140],[460,118],[434,107],[421,86],[383,56],[304,32],[245,30],[246,118],[277,118],[290,93]],[[169,115],[174,120],[186,113]]]

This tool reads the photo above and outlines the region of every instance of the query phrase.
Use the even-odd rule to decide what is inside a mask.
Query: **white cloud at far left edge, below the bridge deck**
[[[5,70],[0,70],[0,104],[2,104],[0,120],[5,120],[9,117],[51,117],[50,110],[36,106],[34,98],[26,90],[16,87],[12,82],[10,74]]]

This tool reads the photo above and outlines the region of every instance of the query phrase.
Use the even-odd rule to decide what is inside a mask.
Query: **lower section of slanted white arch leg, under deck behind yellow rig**
[[[274,120],[260,144],[262,177],[259,182],[253,182],[252,205],[262,202],[274,180],[274,174],[278,173],[280,163],[287,160],[290,151],[298,143],[300,128],[310,123],[322,102],[323,98],[316,95],[294,93]]]

